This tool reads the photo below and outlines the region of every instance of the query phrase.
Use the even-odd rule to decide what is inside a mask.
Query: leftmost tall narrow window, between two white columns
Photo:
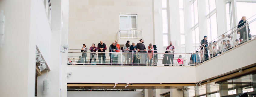
[[[168,46],[168,19],[167,19],[167,1],[162,0],[162,19],[163,19],[163,43]]]

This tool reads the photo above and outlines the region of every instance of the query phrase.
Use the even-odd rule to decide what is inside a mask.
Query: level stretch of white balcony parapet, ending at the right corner
[[[194,83],[194,67],[68,66],[68,83]],[[189,79],[189,80],[188,80]]]

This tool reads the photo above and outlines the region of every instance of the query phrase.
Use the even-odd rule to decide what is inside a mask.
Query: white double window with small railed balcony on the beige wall
[[[120,37],[137,37],[137,15],[119,14]],[[134,30],[134,31],[133,31]]]

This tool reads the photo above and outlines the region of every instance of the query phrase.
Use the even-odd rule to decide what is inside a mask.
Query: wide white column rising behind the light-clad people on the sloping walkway
[[[216,15],[218,36],[227,32],[226,2],[224,0],[216,0]]]

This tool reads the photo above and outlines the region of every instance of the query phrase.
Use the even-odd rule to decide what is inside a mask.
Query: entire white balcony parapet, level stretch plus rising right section
[[[197,67],[68,66],[72,76],[67,82],[195,83],[256,63],[255,44],[252,40]]]

